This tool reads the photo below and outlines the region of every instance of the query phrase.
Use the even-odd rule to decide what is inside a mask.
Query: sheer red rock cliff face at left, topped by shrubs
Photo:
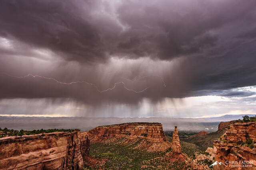
[[[90,141],[80,130],[0,139],[0,169],[80,170]]]

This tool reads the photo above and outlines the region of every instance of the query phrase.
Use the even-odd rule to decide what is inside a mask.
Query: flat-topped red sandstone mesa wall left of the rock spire
[[[106,138],[136,139],[137,137],[150,142],[166,141],[161,123],[122,123],[118,125],[99,126],[86,132],[91,142],[100,142]]]

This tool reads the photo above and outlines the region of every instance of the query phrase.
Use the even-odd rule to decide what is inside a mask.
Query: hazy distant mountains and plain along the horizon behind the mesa
[[[248,114],[247,114],[248,115]],[[75,129],[88,131],[100,125],[112,125],[128,122],[159,122],[164,131],[173,131],[178,126],[179,131],[207,131],[218,130],[221,121],[242,119],[243,115],[224,115],[207,118],[169,118],[169,117],[16,117],[0,116],[0,127],[8,129]],[[254,115],[249,115],[254,116]]]

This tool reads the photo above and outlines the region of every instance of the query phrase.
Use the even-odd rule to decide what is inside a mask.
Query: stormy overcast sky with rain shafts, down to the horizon
[[[256,1],[2,0],[0,115],[256,113]]]

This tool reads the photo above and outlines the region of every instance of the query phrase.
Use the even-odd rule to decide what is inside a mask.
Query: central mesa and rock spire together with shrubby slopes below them
[[[122,123],[96,127],[87,134],[91,142],[92,169],[188,169],[177,127],[172,140],[160,123]],[[97,162],[97,164],[93,164]]]

